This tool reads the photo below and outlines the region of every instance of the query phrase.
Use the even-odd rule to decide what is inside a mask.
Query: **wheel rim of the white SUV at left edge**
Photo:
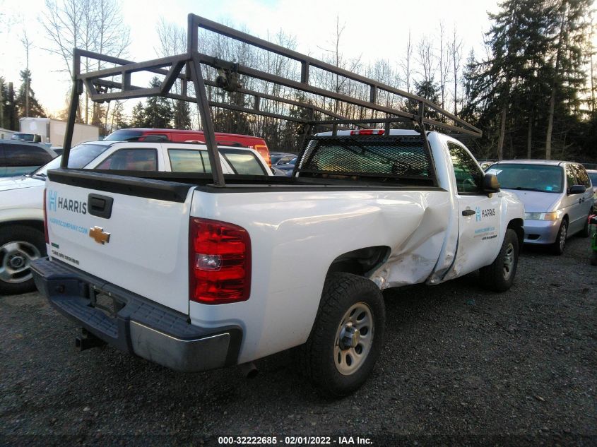
[[[41,256],[30,242],[13,241],[0,246],[0,280],[11,284],[30,280],[30,264]]]

